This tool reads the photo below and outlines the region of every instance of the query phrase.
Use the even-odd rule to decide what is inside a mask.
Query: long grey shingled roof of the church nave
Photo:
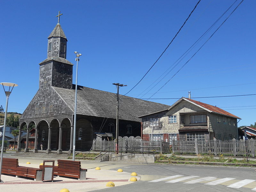
[[[73,89],[52,87],[74,112],[75,85]],[[119,119],[140,122],[137,116],[159,111],[170,106],[123,96],[119,102]],[[76,113],[87,116],[116,118],[116,94],[77,86]]]

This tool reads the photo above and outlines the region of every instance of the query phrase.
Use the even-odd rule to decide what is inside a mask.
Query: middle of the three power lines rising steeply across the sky
[[[237,0],[236,0],[237,1]],[[228,10],[236,3],[236,1],[233,3],[233,4],[231,4],[229,7],[228,7],[228,9],[204,32],[204,34],[203,35],[201,35],[197,40],[196,40],[196,42],[194,43],[194,44],[192,44],[189,48],[188,48],[188,50],[186,51],[186,52],[184,52],[181,56],[180,56],[180,58],[182,58],[184,55],[184,57],[182,58],[182,59],[177,59],[161,76],[163,76],[177,61],[179,61],[172,69],[174,69],[187,55],[188,55],[188,53],[190,52],[190,51],[192,51],[192,49],[203,39],[203,37],[213,28],[213,26],[223,17],[223,15],[225,15],[225,13],[226,12],[228,12]],[[194,46],[195,45],[195,46]],[[186,54],[187,53],[187,54]],[[151,87],[151,89],[149,89],[148,90],[148,92],[149,91],[151,91],[157,84],[159,84],[163,79],[164,79],[164,77],[166,77],[171,71],[172,71],[172,69],[171,70],[169,70],[169,72],[168,73],[166,73],[164,76],[163,76],[163,78],[162,79],[160,79],[160,81],[158,81],[153,87]],[[154,84],[161,76],[159,76],[152,84]],[[150,84],[143,92],[145,92],[152,84]],[[140,94],[142,94],[143,92],[141,92]],[[148,92],[146,92],[144,95],[146,95]],[[142,95],[141,97],[143,97],[144,95]],[[140,97],[140,98],[141,98]]]

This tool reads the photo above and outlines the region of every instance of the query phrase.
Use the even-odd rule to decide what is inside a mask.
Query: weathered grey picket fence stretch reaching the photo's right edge
[[[256,140],[172,140],[172,152],[254,157],[256,154]]]

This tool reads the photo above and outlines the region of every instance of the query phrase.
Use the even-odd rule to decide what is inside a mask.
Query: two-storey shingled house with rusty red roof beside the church
[[[229,140],[238,138],[237,119],[221,108],[182,97],[171,107],[139,116],[143,140]]]

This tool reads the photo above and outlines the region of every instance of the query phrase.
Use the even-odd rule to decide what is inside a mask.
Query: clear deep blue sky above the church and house
[[[235,0],[202,0],[172,44],[145,78],[127,96],[149,98],[204,44],[234,8],[152,90],[148,88],[233,4]],[[197,0],[2,1],[1,82],[15,87],[8,111],[22,113],[38,90],[39,63],[47,57],[47,37],[58,22],[68,39],[67,59],[83,55],[78,84],[128,92],[171,42]],[[244,0],[212,38],[152,98],[211,97],[255,94],[256,1]],[[73,83],[75,70],[73,68]],[[156,81],[157,82],[157,81]],[[147,89],[148,88],[148,89]],[[147,89],[145,92],[143,92]],[[144,93],[146,95],[141,97]],[[141,94],[143,93],[143,94]],[[172,105],[177,99],[151,100]],[[256,121],[256,95],[195,99],[239,116],[241,125]],[[5,108],[5,94],[0,94]],[[120,106],[121,107],[121,106]]]

